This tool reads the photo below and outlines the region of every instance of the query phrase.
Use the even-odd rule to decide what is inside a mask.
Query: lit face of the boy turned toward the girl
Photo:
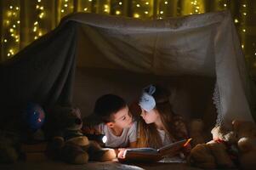
[[[133,117],[131,116],[128,106],[125,106],[121,110],[117,111],[117,113],[113,114],[113,122],[112,127],[131,127],[133,124]]]

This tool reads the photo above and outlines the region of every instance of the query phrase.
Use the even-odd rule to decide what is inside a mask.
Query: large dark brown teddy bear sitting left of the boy
[[[88,161],[111,161],[116,158],[112,149],[104,149],[81,132],[82,118],[79,109],[55,106],[48,111],[45,131],[50,140],[47,156],[71,164]]]

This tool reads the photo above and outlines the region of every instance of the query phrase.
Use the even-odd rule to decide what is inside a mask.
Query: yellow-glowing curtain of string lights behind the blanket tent
[[[255,42],[248,41],[248,38],[254,38],[253,35],[256,34],[256,31],[254,29],[248,29],[248,26],[253,26],[254,24],[252,19],[254,14],[254,3],[252,3],[253,1],[244,0],[233,2],[231,0],[58,0],[58,2],[60,3],[60,5],[58,5],[58,8],[52,8],[52,1],[46,0],[32,0],[35,1],[34,3],[31,3],[31,1],[21,0],[2,1],[4,2],[2,3],[3,7],[0,8],[3,13],[1,27],[1,37],[3,44],[0,48],[0,51],[3,51],[1,53],[3,54],[3,56],[0,56],[0,59],[7,59],[13,57],[14,54],[20,50],[20,48],[24,48],[26,45],[31,43],[32,40],[42,37],[45,33],[57,26],[60,22],[60,19],[66,14],[71,14],[73,12],[91,11],[100,14],[102,12],[104,12],[105,14],[122,14],[124,16],[128,16],[127,14],[132,14],[132,16],[129,15],[128,17],[149,20],[161,20],[167,17],[179,17],[186,14],[200,14],[219,11],[223,9],[231,9],[230,12],[232,13],[232,16],[236,16],[233,21],[235,23],[239,36],[241,37],[241,46],[244,50],[245,56],[255,57],[256,55],[254,49],[256,45],[252,45],[252,43]],[[20,4],[20,2],[24,2],[24,4]],[[31,14],[24,14],[24,9],[26,9],[24,7],[31,7],[30,4],[33,4],[33,8],[30,10]],[[208,5],[213,8],[207,8]],[[233,10],[233,7],[239,7],[239,10]],[[249,13],[249,11],[252,11],[252,13]],[[22,12],[23,14],[20,14],[20,12]],[[27,18],[24,18],[25,16]],[[24,28],[29,28],[29,30],[20,28],[20,25],[25,26]],[[28,37],[24,37],[24,35]],[[245,48],[246,42],[247,48]],[[12,50],[10,51],[10,49]],[[252,59],[247,59],[247,62],[251,61]],[[254,63],[249,65],[252,66],[254,65]],[[256,73],[256,66],[254,72]]]

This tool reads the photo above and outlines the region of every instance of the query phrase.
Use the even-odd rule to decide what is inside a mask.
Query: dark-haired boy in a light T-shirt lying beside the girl
[[[114,94],[101,96],[94,105],[94,116],[101,122],[94,126],[94,130],[107,138],[105,147],[136,147],[137,123],[133,122],[128,105],[121,97]]]

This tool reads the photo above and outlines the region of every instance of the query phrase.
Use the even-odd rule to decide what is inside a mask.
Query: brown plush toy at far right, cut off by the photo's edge
[[[233,121],[233,128],[237,134],[239,163],[242,169],[255,169],[256,167],[256,125],[253,122]]]

